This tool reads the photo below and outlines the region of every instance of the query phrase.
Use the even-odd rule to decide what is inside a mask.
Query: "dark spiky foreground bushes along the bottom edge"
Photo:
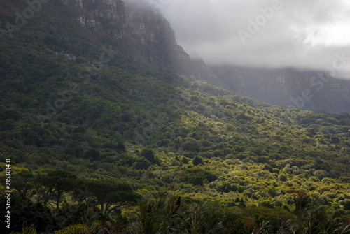
[[[73,214],[72,210],[65,212]],[[76,213],[76,217],[79,214],[80,221],[70,220],[71,225],[66,222],[65,226],[59,224],[60,230],[55,233],[350,233],[349,220],[328,217],[318,200],[311,199],[303,192],[295,195],[293,211],[288,214],[290,218],[279,217],[275,220],[277,222],[267,219],[259,222],[249,217],[244,209],[237,213],[230,212],[218,203],[188,203],[181,197],[167,196],[166,193],[160,193],[156,200],[139,200],[137,210],[131,213],[130,218],[104,217],[94,207]],[[47,226],[45,232],[54,230],[54,226]],[[36,226],[27,226],[25,221],[20,233],[37,233]]]

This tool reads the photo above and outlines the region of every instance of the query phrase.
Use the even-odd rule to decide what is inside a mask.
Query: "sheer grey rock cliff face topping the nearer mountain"
[[[146,1],[135,0],[60,0],[63,4],[88,10],[91,15],[79,15],[81,27],[106,31],[118,40],[138,47],[137,54],[158,64],[178,67],[190,57],[176,43],[169,22]]]

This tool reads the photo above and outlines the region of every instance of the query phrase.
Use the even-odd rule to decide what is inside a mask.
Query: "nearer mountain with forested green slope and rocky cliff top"
[[[10,200],[0,212],[10,231],[345,230],[349,114],[204,82],[218,78],[145,2],[0,6],[0,203]]]

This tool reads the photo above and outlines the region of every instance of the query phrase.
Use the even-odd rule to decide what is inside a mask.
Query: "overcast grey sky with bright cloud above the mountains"
[[[337,76],[350,71],[349,0],[158,1],[179,45],[207,64],[325,70],[339,54]]]

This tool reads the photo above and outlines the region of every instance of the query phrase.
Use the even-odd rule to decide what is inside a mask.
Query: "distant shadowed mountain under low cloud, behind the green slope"
[[[350,112],[349,80],[295,68],[216,66],[211,84],[271,105],[321,112]]]

